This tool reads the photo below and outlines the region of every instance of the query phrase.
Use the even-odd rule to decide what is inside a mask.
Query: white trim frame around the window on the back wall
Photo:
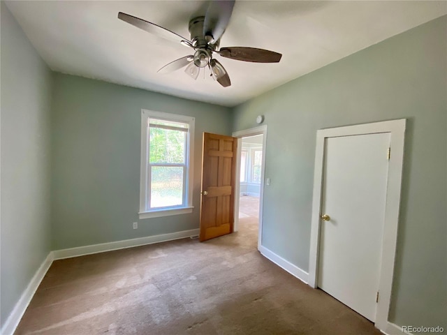
[[[184,122],[189,124],[189,155],[186,155],[186,167],[188,169],[188,180],[186,181],[186,204],[183,207],[166,207],[160,209],[146,208],[147,204],[147,161],[149,148],[147,143],[147,119],[153,117],[155,119],[163,119],[165,121]],[[140,219],[157,218],[161,216],[170,216],[178,214],[187,214],[193,211],[193,150],[194,150],[194,124],[193,117],[186,115],[170,114],[163,112],[154,112],[152,110],[141,110],[141,156],[140,156],[140,211],[138,212]]]

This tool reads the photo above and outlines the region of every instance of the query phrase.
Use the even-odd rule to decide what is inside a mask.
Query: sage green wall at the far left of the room
[[[1,327],[50,252],[51,73],[0,3]]]

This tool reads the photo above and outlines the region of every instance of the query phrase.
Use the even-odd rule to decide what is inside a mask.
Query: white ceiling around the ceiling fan
[[[279,64],[216,56],[232,85],[156,70],[191,49],[117,19],[119,11],[189,38],[207,1],[7,1],[52,70],[233,106],[447,13],[446,1],[236,1],[221,47],[281,52]]]

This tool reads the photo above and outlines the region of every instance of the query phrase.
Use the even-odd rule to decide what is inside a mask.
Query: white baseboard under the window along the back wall
[[[137,239],[124,239],[122,241],[93,244],[91,246],[78,246],[77,248],[61,249],[53,251],[54,260],[90,255],[91,253],[104,253],[105,251],[131,248],[133,246],[144,246],[146,244],[173,241],[174,239],[184,239],[185,237],[198,236],[198,234],[198,229],[191,229],[183,230],[182,232],[171,232],[169,234],[139,237]]]

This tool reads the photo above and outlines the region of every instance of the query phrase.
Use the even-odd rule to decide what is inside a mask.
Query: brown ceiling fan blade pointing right
[[[252,61],[254,63],[278,63],[282,54],[256,47],[222,47],[217,51],[222,57],[237,59],[238,61]]]

